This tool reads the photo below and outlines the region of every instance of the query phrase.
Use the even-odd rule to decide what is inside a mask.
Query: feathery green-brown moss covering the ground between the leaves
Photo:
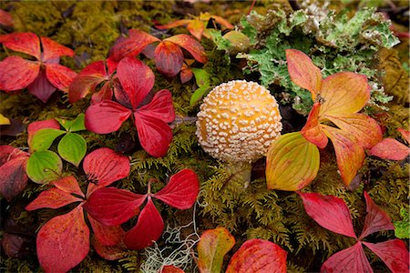
[[[148,32],[155,32],[153,22],[169,23],[188,16],[199,15],[200,12],[209,12],[227,18],[232,24],[239,23],[242,15],[246,15],[251,2],[248,1],[215,1],[210,3],[196,3],[188,5],[173,1],[46,1],[46,2],[1,2],[0,8],[5,9],[15,20],[16,32],[34,32],[45,35],[56,42],[71,47],[76,57],[62,59],[62,64],[75,71],[80,71],[87,64],[104,59],[108,50],[118,35],[129,28],[138,28]],[[355,6],[354,6],[355,7]],[[257,1],[254,9],[261,14],[269,8],[281,8],[290,12],[292,7],[287,1]],[[340,8],[340,6],[338,6]],[[186,32],[184,29],[173,29],[169,34]],[[2,30],[2,34],[5,34]],[[207,50],[209,63],[203,68],[209,73],[212,86],[231,79],[249,77],[242,73],[241,60],[230,58],[224,51],[217,50],[215,45],[207,40],[202,41]],[[405,71],[402,63],[408,50],[402,47],[397,55],[395,50],[380,52],[380,66],[384,68],[383,82],[385,91],[395,96],[387,106],[389,110],[380,119],[385,126],[384,136],[398,137],[397,127],[408,128],[408,70]],[[404,53],[406,52],[406,53]],[[0,52],[1,58],[6,51]],[[405,61],[404,61],[405,60]],[[153,68],[148,59],[147,63]],[[408,66],[407,66],[408,67]],[[155,72],[155,69],[153,69]],[[190,106],[190,96],[195,84],[193,81],[181,85],[178,78],[167,80],[155,72],[156,90],[168,88],[173,96],[177,114],[181,117],[196,116],[199,105]],[[258,77],[256,77],[258,78]],[[254,79],[254,78],[253,78]],[[67,94],[57,92],[47,104],[41,103],[26,90],[16,96],[0,93],[0,113],[29,124],[36,120],[54,117],[73,118],[84,113],[89,104],[89,96],[74,105],[67,102]],[[290,120],[290,122],[296,122]],[[174,138],[167,156],[162,158],[149,155],[134,147],[127,155],[131,157],[131,174],[128,178],[119,181],[116,187],[130,189],[137,193],[146,191],[149,178],[158,178],[165,181],[167,177],[182,168],[189,167],[197,172],[201,182],[200,201],[196,209],[196,223],[200,234],[208,228],[223,226],[230,229],[237,239],[239,248],[248,238],[265,238],[279,244],[288,251],[288,268],[292,272],[317,271],[323,261],[333,253],[353,245],[353,241],[343,236],[319,227],[312,218],[308,217],[302,207],[301,199],[292,192],[272,191],[266,189],[262,161],[254,165],[252,181],[244,187],[241,179],[231,168],[220,164],[209,157],[200,148],[195,137],[195,124],[185,122],[176,124],[173,128]],[[108,135],[97,135],[82,132],[87,139],[88,151],[97,147],[116,149],[121,141],[130,137],[138,141],[134,126],[130,122],[122,126],[118,132]],[[2,136],[1,144],[14,147],[27,147],[26,133],[15,137]],[[121,140],[122,139],[122,140]],[[333,148],[328,147],[321,157],[321,169],[318,177],[306,188],[308,191],[342,197],[348,204],[356,233],[364,225],[365,206],[363,191],[366,190],[374,202],[382,207],[395,220],[401,220],[400,208],[408,210],[408,161],[393,162],[368,157],[361,170],[362,183],[354,191],[349,191],[341,182],[335,165]],[[84,176],[80,168],[65,167],[65,172],[74,174],[80,186],[85,188]],[[163,187],[163,183],[155,185],[153,190]],[[15,258],[2,255],[1,267],[6,272],[32,272],[39,270],[36,260],[36,231],[50,217],[61,214],[61,210],[42,209],[27,212],[24,207],[33,200],[44,187],[29,183],[24,193],[7,203],[1,199],[1,230],[0,234],[15,233],[25,240],[24,249],[20,249]],[[176,211],[160,204],[156,204],[166,225],[178,227],[192,221],[192,210]],[[125,227],[131,227],[129,223]],[[16,228],[18,227],[18,228]],[[182,236],[187,236],[192,230],[182,230]],[[373,236],[374,241],[394,238],[394,232],[384,232]],[[158,242],[163,248],[165,239]],[[233,249],[233,250],[235,250]],[[230,252],[230,254],[233,251]],[[143,253],[129,252],[128,256],[119,261],[107,261],[97,256],[91,250],[88,257],[74,271],[126,271],[137,269],[144,262]],[[386,270],[370,252],[375,270]],[[138,269],[137,269],[138,270]],[[188,269],[187,272],[192,271]]]

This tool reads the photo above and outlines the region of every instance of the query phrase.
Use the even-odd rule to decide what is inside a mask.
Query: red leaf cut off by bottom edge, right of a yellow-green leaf
[[[270,241],[247,240],[232,256],[226,273],[285,273],[286,255],[286,251]]]

